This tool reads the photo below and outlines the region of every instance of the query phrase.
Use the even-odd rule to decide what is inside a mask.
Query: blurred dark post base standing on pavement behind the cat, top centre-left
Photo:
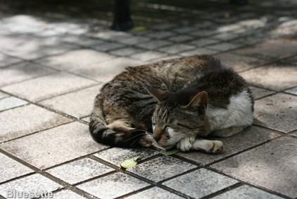
[[[112,30],[129,30],[134,27],[130,18],[129,0],[115,0],[115,13],[113,16]]]

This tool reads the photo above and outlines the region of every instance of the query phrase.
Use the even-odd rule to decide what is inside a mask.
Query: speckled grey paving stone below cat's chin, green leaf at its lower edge
[[[117,167],[120,167],[120,163],[122,163],[125,159],[139,157],[139,159],[144,160],[148,157],[152,157],[153,155],[158,155],[158,152],[148,148],[126,149],[120,147],[113,147],[94,154],[95,157],[99,157],[100,159],[103,159],[110,164],[114,164]]]

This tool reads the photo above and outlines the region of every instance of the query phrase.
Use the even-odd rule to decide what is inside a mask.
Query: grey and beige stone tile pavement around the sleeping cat
[[[89,8],[93,18],[73,17],[82,4],[55,13],[0,3],[0,198],[9,190],[53,198],[297,198],[297,1],[138,1],[132,18],[146,30],[129,32],[108,29],[108,2],[97,2],[96,13]],[[221,154],[163,156],[91,139],[89,114],[103,83],[125,66],[192,54],[226,61],[255,96],[253,126],[214,138],[225,143]],[[136,167],[120,169],[133,157]]]

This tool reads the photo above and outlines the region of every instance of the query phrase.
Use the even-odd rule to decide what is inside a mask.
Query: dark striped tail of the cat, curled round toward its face
[[[91,113],[89,132],[97,143],[115,147],[146,146],[143,143],[147,143],[149,137],[142,130],[125,131],[123,128],[108,128],[104,119],[103,99],[100,94],[96,97],[94,109]]]

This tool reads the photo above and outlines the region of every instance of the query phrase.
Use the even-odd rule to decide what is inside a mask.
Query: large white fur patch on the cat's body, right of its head
[[[208,106],[206,116],[210,121],[210,131],[230,126],[250,126],[253,123],[251,100],[246,90],[230,97],[227,109]]]

